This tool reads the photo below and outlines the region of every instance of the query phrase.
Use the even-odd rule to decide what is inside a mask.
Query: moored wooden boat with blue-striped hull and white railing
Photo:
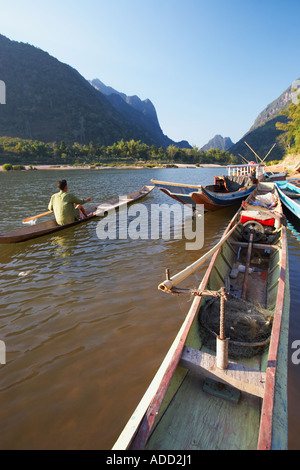
[[[264,179],[262,164],[229,165],[227,176],[215,176],[213,185],[201,186],[151,180],[162,192],[181,202],[195,206],[203,204],[205,211],[215,211],[240,204]]]

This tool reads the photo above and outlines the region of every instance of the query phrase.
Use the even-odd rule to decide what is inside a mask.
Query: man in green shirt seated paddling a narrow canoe
[[[72,193],[68,193],[68,184],[66,180],[57,183],[59,193],[51,196],[48,209],[53,211],[58,225],[71,224],[83,217],[88,217],[82,204],[90,202],[91,198],[79,199]]]

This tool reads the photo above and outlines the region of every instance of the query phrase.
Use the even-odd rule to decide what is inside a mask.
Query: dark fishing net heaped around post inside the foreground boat
[[[216,336],[220,331],[220,298],[214,297],[202,306],[199,326],[203,344],[216,349]],[[231,357],[252,357],[268,346],[272,328],[270,311],[259,305],[239,299],[232,294],[225,302],[225,335],[229,338]]]

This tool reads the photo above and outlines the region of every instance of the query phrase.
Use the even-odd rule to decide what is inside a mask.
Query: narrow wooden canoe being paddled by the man
[[[118,210],[123,204],[132,204],[133,202],[138,201],[139,199],[147,196],[154,186],[145,185],[140,190],[135,191],[127,196],[122,196],[121,198],[112,199],[108,202],[99,204],[98,206],[92,206],[86,209],[88,217],[85,219],[80,219],[71,224],[58,225],[55,218],[47,220],[46,222],[41,222],[36,225],[30,225],[29,227],[23,227],[19,230],[13,232],[0,234],[0,244],[2,243],[19,243],[26,240],[31,240],[43,235],[48,235],[53,232],[58,232],[60,230],[67,229],[69,227],[74,227],[75,225],[88,222],[95,217],[103,217],[109,210]],[[92,215],[89,215],[92,214]]]

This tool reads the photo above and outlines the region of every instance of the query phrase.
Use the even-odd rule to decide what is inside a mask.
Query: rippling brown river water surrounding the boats
[[[151,178],[209,184],[220,168],[0,172],[0,233],[45,212],[56,181],[100,203]],[[173,204],[158,189],[140,203]],[[133,207],[133,206],[132,206]],[[190,307],[157,290],[210,249],[236,207],[204,218],[204,246],[185,239],[100,240],[97,220],[57,234],[0,245],[0,449],[111,449],[167,353]],[[295,222],[294,222],[295,226]],[[299,228],[298,228],[299,230]],[[300,235],[288,229],[291,280],[289,448],[300,448]],[[205,271],[191,281],[195,287]]]

